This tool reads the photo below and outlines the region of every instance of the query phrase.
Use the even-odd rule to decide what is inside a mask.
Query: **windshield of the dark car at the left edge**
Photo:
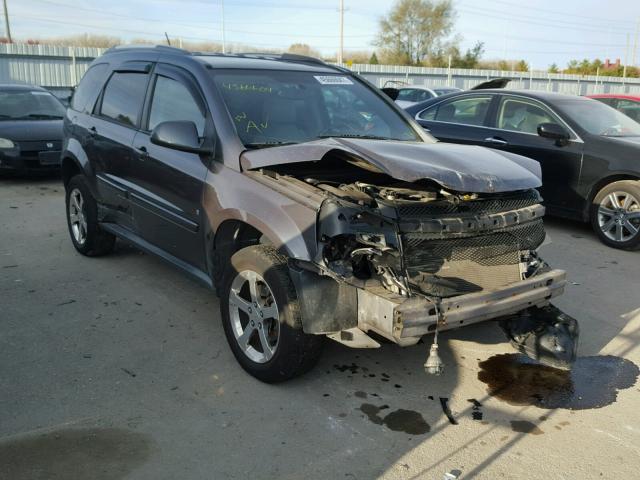
[[[49,92],[0,91],[0,120],[57,119],[64,116],[64,111]]]

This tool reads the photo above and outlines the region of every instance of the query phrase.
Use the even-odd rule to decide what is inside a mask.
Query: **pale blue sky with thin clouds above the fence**
[[[7,0],[12,36],[23,40],[81,33],[161,40],[166,31],[174,39],[222,42],[223,3],[227,43],[273,49],[307,43],[324,55],[338,49],[339,0]],[[344,5],[345,51],[373,51],[379,20],[393,1]],[[454,0],[454,8],[461,46],[484,42],[485,59],[525,59],[534,69],[574,58],[626,56],[633,64],[640,0]]]

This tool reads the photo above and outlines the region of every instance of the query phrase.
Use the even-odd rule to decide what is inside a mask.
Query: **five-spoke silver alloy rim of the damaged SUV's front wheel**
[[[252,270],[243,270],[229,290],[229,317],[242,352],[256,363],[266,363],[280,338],[279,311],[269,284]]]

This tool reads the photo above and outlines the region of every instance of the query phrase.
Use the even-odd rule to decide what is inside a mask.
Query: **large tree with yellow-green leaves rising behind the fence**
[[[398,0],[380,20],[375,44],[388,61],[420,65],[441,49],[453,22],[451,0]]]

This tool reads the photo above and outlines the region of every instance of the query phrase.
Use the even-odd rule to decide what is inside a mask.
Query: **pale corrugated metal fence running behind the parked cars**
[[[78,84],[91,61],[106,49],[57,45],[0,44],[0,83],[29,83],[68,90]],[[589,95],[640,93],[640,79],[547,72],[506,72],[400,65],[345,65],[375,85],[402,81],[410,85],[468,89],[490,78],[508,77],[510,89],[544,90]]]

